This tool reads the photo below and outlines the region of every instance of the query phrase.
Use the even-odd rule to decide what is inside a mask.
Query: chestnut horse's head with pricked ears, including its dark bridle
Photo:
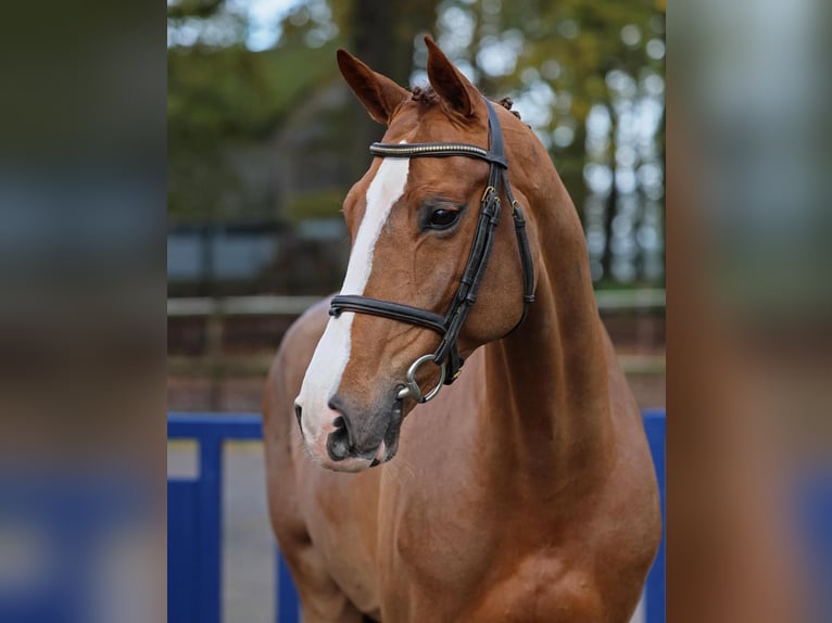
[[[387,132],[344,201],[346,276],[295,400],[310,454],[337,471],[390,460],[404,418],[533,300],[529,178],[509,187],[505,160],[528,157],[533,135],[426,42],[430,85],[413,92],[338,51]]]

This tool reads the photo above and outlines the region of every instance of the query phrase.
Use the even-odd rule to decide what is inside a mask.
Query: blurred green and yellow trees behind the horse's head
[[[382,128],[341,84],[335,49],[407,85],[426,79],[431,33],[550,150],[594,277],[663,281],[663,2],[299,0],[265,26],[255,4],[168,3],[173,221],[337,215]],[[270,43],[252,44],[264,28]]]

